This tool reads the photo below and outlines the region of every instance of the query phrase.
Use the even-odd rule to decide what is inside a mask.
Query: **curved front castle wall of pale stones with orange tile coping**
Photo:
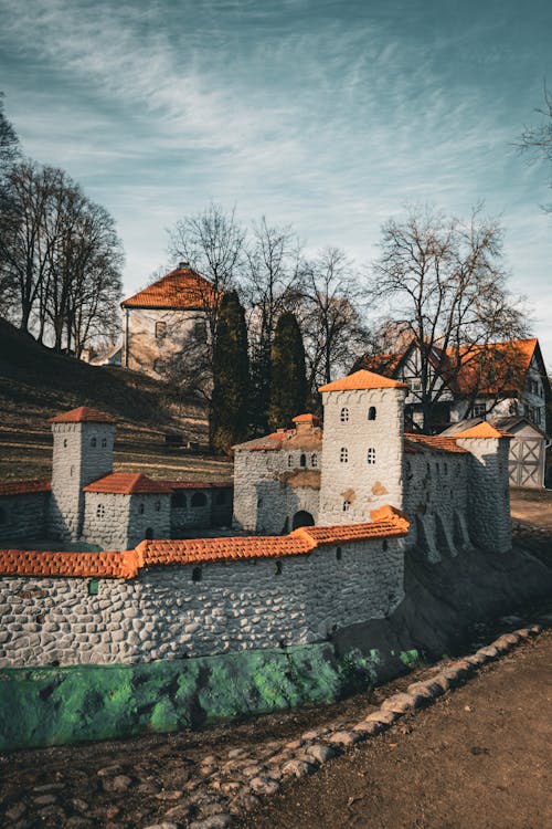
[[[33,554],[26,564],[30,554],[0,553],[0,668],[305,644],[384,618],[404,596],[407,522],[347,529],[333,538],[331,527],[312,527],[283,538],[151,542],[121,554]]]

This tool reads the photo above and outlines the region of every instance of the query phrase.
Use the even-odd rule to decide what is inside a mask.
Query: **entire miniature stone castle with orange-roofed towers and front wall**
[[[321,392],[323,432],[299,416],[236,447],[233,521],[264,534],[251,537],[171,539],[187,486],[215,523],[229,487],[113,473],[109,417],[54,418],[51,486],[0,490],[3,537],[46,529],[112,552],[0,550],[0,667],[323,642],[397,608],[414,545],[429,562],[510,549],[508,434],[405,434],[405,384],[368,370]]]

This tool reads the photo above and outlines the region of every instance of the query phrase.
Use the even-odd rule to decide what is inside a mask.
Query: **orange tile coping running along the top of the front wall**
[[[365,524],[300,527],[285,536],[144,541],[123,553],[38,553],[0,550],[0,575],[134,578],[140,568],[308,555],[317,547],[404,536],[408,521],[393,507]]]

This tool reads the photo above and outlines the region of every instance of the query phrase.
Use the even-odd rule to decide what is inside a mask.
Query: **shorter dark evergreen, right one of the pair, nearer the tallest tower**
[[[307,398],[305,347],[295,314],[286,312],[279,317],[270,356],[268,426],[280,429],[304,411]]]

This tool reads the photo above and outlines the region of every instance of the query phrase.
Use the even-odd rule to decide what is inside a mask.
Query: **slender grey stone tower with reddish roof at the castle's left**
[[[54,436],[49,533],[79,538],[84,521],[83,486],[113,472],[115,420],[81,406],[51,418]]]

